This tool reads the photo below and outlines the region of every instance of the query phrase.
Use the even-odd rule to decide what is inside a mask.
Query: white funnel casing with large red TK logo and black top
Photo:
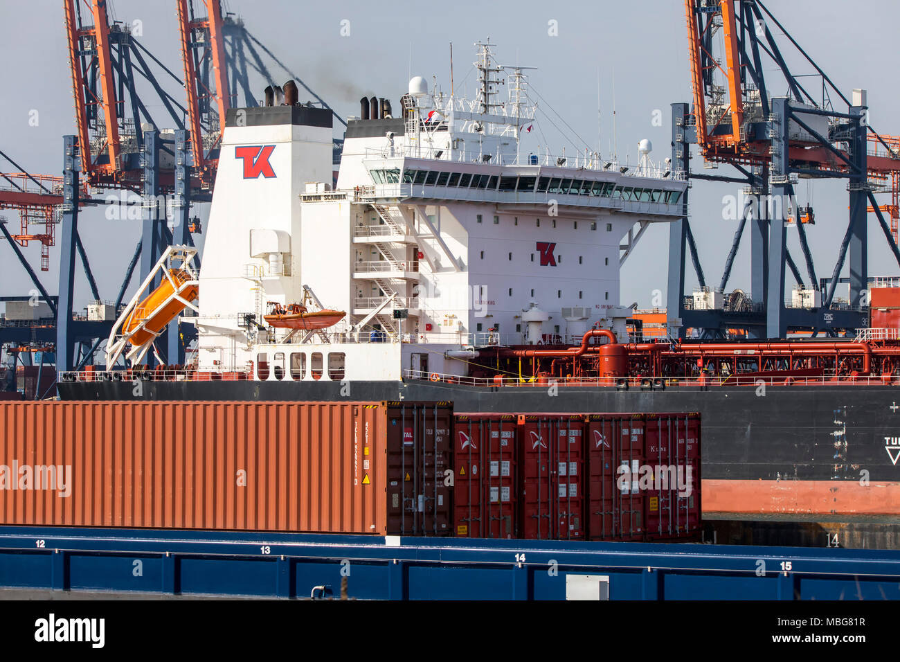
[[[246,360],[219,354],[246,348],[244,315],[262,322],[266,301],[302,300],[292,277],[301,273],[300,195],[308,182],[332,181],[331,132],[331,114],[320,108],[229,111],[200,271],[200,367],[215,359],[215,367],[243,368]]]

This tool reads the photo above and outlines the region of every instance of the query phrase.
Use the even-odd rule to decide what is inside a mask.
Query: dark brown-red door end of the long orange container
[[[450,534],[452,417],[452,410],[439,404],[400,404],[389,410],[389,533]]]

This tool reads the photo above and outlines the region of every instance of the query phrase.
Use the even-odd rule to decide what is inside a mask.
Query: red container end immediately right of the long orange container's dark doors
[[[516,417],[455,417],[455,534],[460,538],[518,538]]]

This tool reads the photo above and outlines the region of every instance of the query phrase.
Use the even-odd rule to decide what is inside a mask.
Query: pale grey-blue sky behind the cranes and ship
[[[58,0],[0,3],[4,31],[4,62],[0,74],[4,95],[0,98],[0,150],[34,173],[58,174],[62,165],[62,138],[75,131],[71,82],[67,61],[62,4]],[[900,134],[900,86],[896,86],[896,25],[900,5],[889,0],[869,0],[866,12],[848,12],[838,0],[769,0],[770,10],[807,52],[850,95],[853,87],[869,90],[871,123],[887,134]],[[398,104],[410,71],[437,76],[449,86],[449,43],[454,44],[455,83],[460,85],[474,61],[473,43],[490,38],[504,63],[535,66],[531,85],[572,131],[558,131],[548,116],[562,126],[554,113],[541,113],[541,129],[553,152],[572,141],[587,142],[608,153],[612,141],[612,90],[615,80],[617,146],[620,159],[637,158],[637,142],[653,141],[653,159],[670,151],[670,104],[690,100],[689,61],[683,3],[680,0],[645,0],[641,3],[563,2],[548,5],[523,0],[516,4],[298,3],[257,0],[225,3],[239,14],[247,28],[293,69],[303,82],[343,115],[358,113],[362,95],[387,96]],[[176,73],[182,71],[175,3],[168,0],[137,2],[115,0],[112,17],[140,21],[142,43]],[[349,34],[342,36],[342,22]],[[558,36],[548,34],[555,21]],[[347,32],[347,23],[343,23]],[[811,72],[797,58],[789,64],[796,74]],[[775,72],[771,74],[775,76]],[[281,74],[276,77],[284,77]],[[598,78],[600,126],[598,130]],[[775,78],[771,78],[775,80]],[[472,92],[474,76],[464,88]],[[807,81],[812,79],[807,78]],[[818,83],[810,83],[818,89]],[[258,96],[262,96],[261,88]],[[168,86],[180,98],[183,91]],[[770,85],[770,93],[785,90]],[[301,94],[304,100],[305,95]],[[396,106],[395,106],[396,107]],[[39,122],[31,126],[32,111]],[[161,111],[151,108],[151,112]],[[654,125],[655,111],[662,111],[662,126]],[[534,132],[537,135],[536,132]],[[577,135],[573,135],[577,134]],[[543,142],[544,139],[539,139]],[[700,167],[695,160],[695,167]],[[2,170],[12,169],[6,164]],[[725,174],[728,168],[719,168]],[[815,226],[808,238],[819,276],[830,275],[846,227],[845,182],[817,182],[797,186],[800,204],[815,206]],[[736,186],[696,182],[691,189],[691,224],[698,240],[707,282],[718,284],[736,222],[723,219],[723,197],[734,195]],[[205,210],[201,211],[201,215]],[[13,222],[14,213],[4,212]],[[82,235],[103,298],[118,291],[121,274],[139,238],[139,222],[107,221],[102,211],[82,215]],[[869,219],[869,273],[898,273],[896,262],[878,229]],[[788,245],[802,264],[796,231],[789,231]],[[668,231],[659,226],[648,231],[622,271],[621,301],[649,306],[653,291],[666,288]],[[40,249],[24,249],[34,265]],[[39,272],[49,289],[58,289],[58,249],[51,249],[49,272]],[[0,245],[4,264],[4,295],[25,294],[30,281],[14,263],[12,250]],[[688,270],[688,288],[694,285]],[[89,291],[83,277],[76,296],[78,307],[87,303]],[[788,277],[788,290],[793,281]],[[749,290],[749,241],[735,259],[729,290]]]

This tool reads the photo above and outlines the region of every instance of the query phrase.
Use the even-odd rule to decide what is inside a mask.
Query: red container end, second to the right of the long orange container
[[[520,426],[522,538],[584,537],[583,414],[527,414]]]

